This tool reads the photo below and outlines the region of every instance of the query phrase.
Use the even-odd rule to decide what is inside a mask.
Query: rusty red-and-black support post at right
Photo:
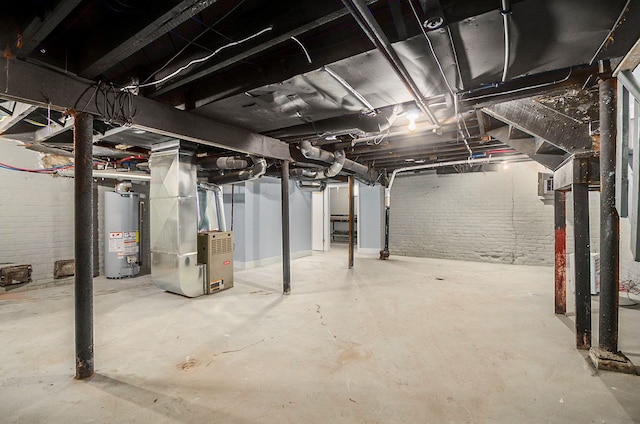
[[[556,190],[555,203],[555,311],[567,313],[567,193]]]

